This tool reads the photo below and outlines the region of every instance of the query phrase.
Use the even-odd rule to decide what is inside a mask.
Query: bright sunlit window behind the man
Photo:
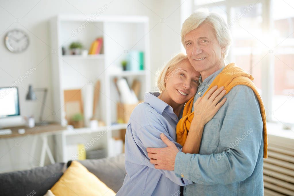
[[[294,1],[195,0],[222,15],[233,37],[226,63],[254,76],[268,121],[294,123]]]

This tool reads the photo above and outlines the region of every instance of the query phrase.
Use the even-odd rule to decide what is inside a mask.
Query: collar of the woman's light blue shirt
[[[154,108],[158,113],[162,114],[166,107],[171,106],[165,103],[163,100],[159,99],[159,95],[159,92],[146,92],[144,101],[151,105],[152,108]]]

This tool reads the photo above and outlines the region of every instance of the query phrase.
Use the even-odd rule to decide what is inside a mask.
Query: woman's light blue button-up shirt
[[[192,184],[192,181],[177,177],[174,171],[155,169],[148,158],[146,148],[166,147],[160,138],[161,133],[175,143],[179,150],[182,149],[175,142],[178,117],[173,108],[158,96],[158,92],[146,93],[145,102],[137,105],[130,116],[125,138],[127,174],[123,186],[117,192],[118,196],[176,196],[180,195],[180,185]]]

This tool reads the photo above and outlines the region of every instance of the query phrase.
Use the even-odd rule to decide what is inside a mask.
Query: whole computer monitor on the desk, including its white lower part
[[[24,124],[19,110],[18,88],[0,88],[0,129]]]

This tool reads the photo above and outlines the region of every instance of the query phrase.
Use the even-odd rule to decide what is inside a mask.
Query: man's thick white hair
[[[232,42],[231,33],[228,24],[223,17],[214,12],[204,10],[196,11],[185,20],[181,30],[182,44],[184,48],[186,48],[185,35],[190,31],[197,29],[203,23],[210,25],[214,29],[220,47],[225,47],[225,52],[222,54],[225,59]]]

